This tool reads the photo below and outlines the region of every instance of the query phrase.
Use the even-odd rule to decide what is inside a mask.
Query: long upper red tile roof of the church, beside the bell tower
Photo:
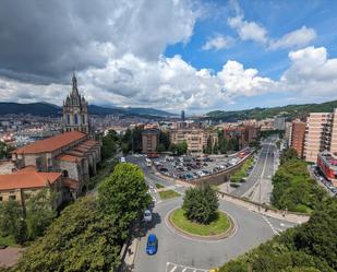
[[[45,140],[36,141],[32,144],[25,145],[15,150],[16,154],[37,154],[45,152],[52,152],[63,146],[71,144],[72,142],[85,139],[86,134],[80,131],[70,131],[59,135],[50,137]]]

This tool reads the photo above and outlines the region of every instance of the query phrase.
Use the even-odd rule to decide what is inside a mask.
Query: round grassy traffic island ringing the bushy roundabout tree
[[[188,220],[184,211],[179,208],[169,213],[168,223],[177,233],[201,240],[225,239],[234,233],[233,220],[221,211],[217,211],[214,221],[204,225]]]

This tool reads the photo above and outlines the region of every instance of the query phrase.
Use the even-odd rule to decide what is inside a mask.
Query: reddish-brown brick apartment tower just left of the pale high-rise
[[[290,147],[296,150],[298,157],[303,157],[304,138],[305,138],[306,122],[293,120],[290,129]]]

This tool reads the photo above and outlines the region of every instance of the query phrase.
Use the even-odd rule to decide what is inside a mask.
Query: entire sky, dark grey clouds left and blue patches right
[[[337,99],[337,1],[0,1],[0,102],[188,114]]]

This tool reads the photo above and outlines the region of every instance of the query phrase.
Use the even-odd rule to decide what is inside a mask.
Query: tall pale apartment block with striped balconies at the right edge
[[[320,152],[337,152],[337,109],[334,113],[311,113],[306,120],[304,157],[316,163]]]

